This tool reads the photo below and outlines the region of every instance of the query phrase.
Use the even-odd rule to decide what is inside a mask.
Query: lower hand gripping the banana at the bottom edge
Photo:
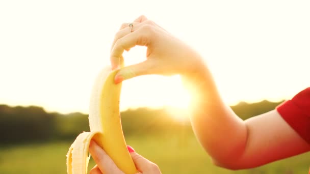
[[[159,167],[145,159],[141,155],[137,154],[134,149],[130,146],[127,146],[130,155],[133,158],[133,161],[136,165],[136,168],[140,171],[139,173],[149,173],[149,174],[158,174],[161,173]],[[93,157],[97,165],[90,170],[90,174],[123,174],[113,160],[107,155],[107,153],[98,146],[98,144],[91,140],[89,145],[89,152]]]

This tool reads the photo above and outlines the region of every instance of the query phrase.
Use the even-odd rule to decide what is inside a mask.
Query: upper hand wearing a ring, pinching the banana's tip
[[[123,51],[136,45],[147,47],[147,60],[121,68],[115,75],[116,83],[139,75],[185,75],[204,68],[202,59],[192,48],[145,16],[140,16],[133,22],[133,32],[129,23],[124,23],[116,34],[111,50],[112,69],[122,64]]]

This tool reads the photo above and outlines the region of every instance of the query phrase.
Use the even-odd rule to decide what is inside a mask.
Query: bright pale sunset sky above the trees
[[[206,60],[227,104],[290,99],[310,86],[310,1],[0,1],[0,104],[88,113],[115,33],[140,15]],[[145,48],[125,52],[126,65]],[[123,82],[121,108],[186,107],[178,76]]]

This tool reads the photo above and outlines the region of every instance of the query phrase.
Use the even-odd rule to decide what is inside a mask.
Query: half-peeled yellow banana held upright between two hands
[[[106,151],[124,173],[136,173],[137,169],[127,151],[120,115],[119,98],[121,83],[114,83],[116,71],[104,68],[98,75],[92,90],[89,107],[90,132],[76,137],[67,153],[67,173],[87,173],[90,155],[89,143],[94,139]]]

